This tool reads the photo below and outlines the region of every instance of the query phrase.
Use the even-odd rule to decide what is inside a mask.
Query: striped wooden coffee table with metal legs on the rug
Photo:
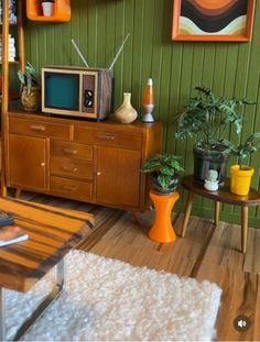
[[[17,199],[0,198],[0,211],[11,213],[29,240],[0,247],[0,341],[6,341],[4,289],[26,293],[55,265],[56,285],[32,316],[19,328],[17,341],[45,308],[56,299],[65,284],[64,257],[93,228],[93,216],[74,210]]]

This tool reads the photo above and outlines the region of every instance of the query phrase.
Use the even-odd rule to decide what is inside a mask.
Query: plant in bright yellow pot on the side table
[[[258,139],[260,139],[260,133],[253,133],[243,144],[231,150],[232,154],[238,157],[238,164],[230,167],[230,191],[235,195],[247,196],[249,192],[254,169],[247,165],[247,161],[260,147]]]

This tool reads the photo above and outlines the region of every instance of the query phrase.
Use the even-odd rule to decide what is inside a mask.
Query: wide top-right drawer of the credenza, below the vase
[[[75,125],[74,140],[102,146],[113,146],[130,150],[142,148],[142,134],[137,132],[116,131],[112,129],[89,129]]]

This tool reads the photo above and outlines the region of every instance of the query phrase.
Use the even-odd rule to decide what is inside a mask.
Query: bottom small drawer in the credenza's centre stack
[[[93,184],[72,180],[59,177],[51,177],[51,191],[56,196],[65,196],[77,200],[90,200],[93,197]]]

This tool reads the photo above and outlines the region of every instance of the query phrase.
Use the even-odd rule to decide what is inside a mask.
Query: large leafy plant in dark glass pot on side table
[[[228,128],[235,126],[237,135],[242,129],[243,115],[237,111],[246,99],[217,98],[210,89],[196,87],[197,95],[191,97],[184,112],[177,118],[177,139],[195,139],[194,178],[204,181],[208,169],[216,169],[219,183],[226,174],[226,162],[231,142],[224,140]]]

